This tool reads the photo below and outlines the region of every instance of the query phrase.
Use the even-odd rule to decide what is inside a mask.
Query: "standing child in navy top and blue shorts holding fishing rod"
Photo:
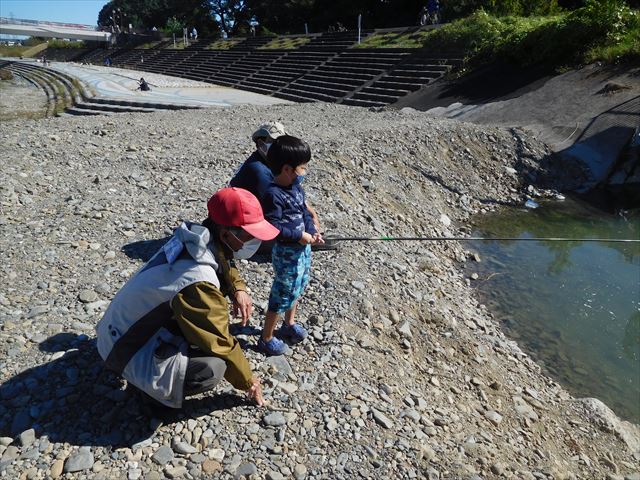
[[[273,335],[283,313],[284,324],[279,337],[298,343],[307,336],[307,331],[295,322],[294,317],[298,298],[309,283],[311,245],[324,243],[305,206],[304,190],[299,181],[299,177],[307,172],[309,160],[309,145],[290,135],[276,138],[267,154],[267,164],[274,178],[263,199],[264,216],[280,230],[272,253],[275,278],[258,341],[258,348],[267,355],[282,355],[287,349],[285,343]]]

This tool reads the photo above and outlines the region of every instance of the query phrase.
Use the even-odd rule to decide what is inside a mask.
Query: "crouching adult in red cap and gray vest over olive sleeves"
[[[251,298],[233,258],[250,257],[279,232],[246,190],[224,188],[207,207],[203,225],[183,223],[115,295],[96,327],[98,351],[107,368],[168,407],[222,378],[264,405],[229,332],[225,294],[248,318]]]

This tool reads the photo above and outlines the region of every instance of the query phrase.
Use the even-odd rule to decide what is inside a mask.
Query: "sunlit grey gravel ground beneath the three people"
[[[640,478],[637,427],[505,338],[461,273],[482,259],[456,243],[316,252],[309,338],[266,359],[257,329],[239,334],[267,408],[225,384],[159,416],[105,372],[109,300],[206,215],[268,119],[311,144],[305,188],[329,235],[464,234],[535,192],[548,154],[519,130],[331,104],[4,124],[2,478]],[[259,327],[271,266],[241,268]]]

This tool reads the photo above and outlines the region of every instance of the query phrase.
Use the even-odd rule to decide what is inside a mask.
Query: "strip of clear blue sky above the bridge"
[[[108,0],[0,0],[0,17],[95,26]]]

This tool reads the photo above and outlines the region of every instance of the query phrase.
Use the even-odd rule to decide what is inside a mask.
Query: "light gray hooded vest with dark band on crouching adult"
[[[96,327],[98,352],[107,367],[173,408],[182,406],[189,345],[168,328],[171,300],[196,282],[220,287],[210,247],[207,228],[180,225],[118,291]]]

